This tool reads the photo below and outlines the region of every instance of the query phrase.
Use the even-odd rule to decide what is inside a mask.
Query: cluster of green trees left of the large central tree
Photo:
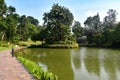
[[[13,6],[0,0],[0,40],[15,42],[28,40],[38,32],[39,21],[32,16],[16,13]]]

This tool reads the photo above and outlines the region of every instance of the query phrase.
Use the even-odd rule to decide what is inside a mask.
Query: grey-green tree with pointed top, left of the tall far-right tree
[[[93,17],[88,17],[84,24],[84,33],[87,35],[88,42],[92,43],[94,41],[93,34],[98,34],[102,31],[99,14],[97,13]]]

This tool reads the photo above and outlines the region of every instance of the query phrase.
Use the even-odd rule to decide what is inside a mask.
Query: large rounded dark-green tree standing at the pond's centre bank
[[[70,35],[70,26],[73,15],[64,6],[54,4],[48,13],[44,13],[44,26],[46,26],[46,43],[65,41]]]

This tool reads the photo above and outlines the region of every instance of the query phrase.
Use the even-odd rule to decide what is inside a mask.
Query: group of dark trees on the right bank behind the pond
[[[116,22],[117,14],[116,10],[110,9],[103,22],[98,13],[86,19],[83,32],[87,36],[88,44],[120,47],[120,22]]]

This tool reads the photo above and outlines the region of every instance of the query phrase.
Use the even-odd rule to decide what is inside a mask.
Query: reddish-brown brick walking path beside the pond
[[[24,47],[17,48],[22,49]],[[0,80],[33,80],[32,76],[12,57],[11,50],[0,52]]]

